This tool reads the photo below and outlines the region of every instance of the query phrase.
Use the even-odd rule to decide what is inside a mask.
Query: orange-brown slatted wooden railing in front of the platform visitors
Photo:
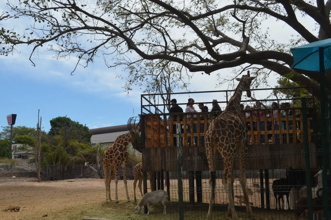
[[[285,117],[280,115],[280,111],[284,110],[288,112],[292,110],[292,115],[289,116],[286,114]],[[313,119],[313,108],[307,108],[308,116],[308,140],[312,141],[312,119]],[[243,115],[244,124],[246,125],[249,122],[248,126],[248,135],[250,135],[251,140],[250,144],[261,144],[261,135],[264,135],[265,144],[275,144],[276,135],[279,134],[279,143],[303,143],[303,118],[302,118],[302,109],[300,107],[293,108],[284,108],[279,109],[278,118],[274,118],[273,109],[252,109],[250,111],[243,110],[241,113]],[[246,112],[250,113],[249,118],[246,118]],[[262,112],[263,117],[252,117],[255,113]],[[258,113],[259,114],[259,113]],[[190,120],[193,118],[193,115],[197,116],[196,119]],[[166,147],[166,146],[176,146],[176,132],[173,130],[177,123],[180,123],[182,126],[181,136],[182,136],[182,145],[193,146],[194,139],[197,146],[200,146],[201,143],[204,143],[205,132],[208,129],[211,121],[213,121],[214,112],[195,112],[195,113],[181,113],[181,114],[148,114],[148,116],[158,116],[158,117],[146,117],[145,116],[145,140],[146,147]],[[189,116],[189,117],[188,117]],[[195,117],[194,116],[194,117]],[[176,120],[173,120],[176,118]],[[153,119],[153,123],[152,123]],[[264,125],[263,125],[263,123]],[[153,126],[152,126],[153,124]],[[192,132],[188,133],[187,124],[190,125],[190,128],[196,127]],[[196,124],[196,125],[194,125]],[[254,126],[257,124],[256,126]],[[261,127],[261,124],[263,127]],[[279,125],[278,129],[275,129],[275,125]],[[202,130],[202,125],[204,129]],[[207,125],[207,126],[206,126]],[[256,129],[255,129],[256,128]],[[264,128],[264,130],[263,130]],[[191,140],[188,140],[188,137],[191,137]],[[272,137],[272,138],[270,138]],[[270,140],[271,139],[271,140]],[[190,143],[188,143],[190,142]]]

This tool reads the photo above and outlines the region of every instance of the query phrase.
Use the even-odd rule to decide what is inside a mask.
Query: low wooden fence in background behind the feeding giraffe
[[[97,169],[97,165],[93,164],[93,168]],[[50,180],[51,176],[56,180],[65,179],[80,179],[80,178],[100,178],[98,173],[84,165],[50,165],[42,166],[41,172],[43,180]],[[123,179],[122,165],[118,167],[119,179]],[[126,178],[133,179],[133,167],[126,167]],[[114,175],[113,175],[114,179]]]

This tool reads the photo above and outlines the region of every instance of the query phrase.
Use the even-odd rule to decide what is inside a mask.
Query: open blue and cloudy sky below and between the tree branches
[[[0,1],[0,14],[9,10],[5,3],[6,1]],[[14,21],[10,26],[23,27],[22,24],[28,23],[26,19],[20,18],[19,22]],[[301,17],[298,19],[308,30],[314,28],[311,19]],[[297,35],[282,21],[269,19],[267,22],[262,22],[261,27],[269,27],[271,37],[277,39],[279,43],[288,43],[292,38],[291,35]],[[129,95],[124,92],[125,80],[116,78],[116,75],[127,74],[121,71],[121,68],[107,68],[103,59],[97,58],[95,63],[87,68],[78,66],[71,76],[76,57],[56,60],[41,48],[32,56],[36,65],[34,67],[28,60],[32,47],[20,46],[18,49],[20,53],[7,57],[0,56],[0,90],[3,94],[0,105],[0,126],[7,126],[7,115],[17,114],[15,126],[36,127],[38,109],[42,116],[42,128],[45,131],[50,129],[49,121],[58,116],[68,116],[92,129],[127,124],[130,117],[140,114],[141,91],[136,89]],[[191,91],[226,90],[227,85],[215,88],[216,74],[221,73],[223,77],[231,77],[231,71],[232,69],[222,69],[213,72],[210,76],[197,72],[193,75],[189,89]],[[278,76],[277,74],[270,76],[270,86],[276,84]],[[268,94],[269,92],[262,91],[256,92],[255,96],[263,98]],[[193,97],[196,103],[213,99],[225,101],[224,95],[219,93],[193,94],[190,97]],[[184,103],[187,102],[188,95],[174,95],[172,98]],[[211,104],[207,106],[212,107]],[[184,106],[182,107],[184,109]]]

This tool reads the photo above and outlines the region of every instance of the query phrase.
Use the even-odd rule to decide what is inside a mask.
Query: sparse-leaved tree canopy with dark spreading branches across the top
[[[19,50],[19,45],[30,45],[32,63],[32,54],[41,47],[56,58],[76,56],[77,65],[83,66],[101,56],[108,67],[127,68],[129,75],[119,76],[127,80],[127,91],[158,82],[155,79],[161,79],[165,67],[170,69],[172,85],[184,88],[190,72],[211,74],[239,67],[239,73],[253,69],[259,76],[254,83],[264,82],[269,71],[274,71],[301,86],[312,86],[319,97],[319,75],[291,69],[290,48],[331,38],[331,0],[234,0],[230,4],[214,0],[9,0],[8,7],[12,11],[0,17],[2,55]],[[299,22],[300,16],[314,20],[318,35]],[[32,24],[13,29],[11,22],[23,17],[32,19]],[[283,22],[298,36],[278,43],[268,34],[269,28],[260,27],[267,19]]]

